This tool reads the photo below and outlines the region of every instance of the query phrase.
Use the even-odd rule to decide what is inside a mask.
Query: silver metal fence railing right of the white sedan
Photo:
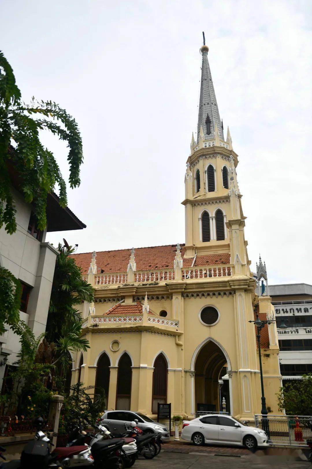
[[[273,444],[302,446],[312,438],[312,416],[269,415],[254,416],[255,426],[262,428]]]

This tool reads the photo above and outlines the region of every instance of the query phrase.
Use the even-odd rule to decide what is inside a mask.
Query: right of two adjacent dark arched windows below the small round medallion
[[[124,353],[118,364],[116,410],[129,410],[131,403],[131,358]]]

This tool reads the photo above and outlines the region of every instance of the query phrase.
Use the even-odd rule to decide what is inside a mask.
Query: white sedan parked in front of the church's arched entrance
[[[248,449],[268,446],[268,437],[263,430],[249,427],[232,416],[222,414],[207,414],[194,420],[184,420],[181,438],[193,441],[197,446],[204,443],[243,445]]]

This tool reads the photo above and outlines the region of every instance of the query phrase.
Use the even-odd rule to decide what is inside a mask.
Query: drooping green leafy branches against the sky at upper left
[[[51,151],[40,141],[40,130],[49,130],[69,148],[69,184],[80,185],[82,142],[75,119],[52,101],[21,100],[13,69],[0,51],[0,227],[16,231],[16,209],[10,189],[10,170],[20,182],[25,201],[34,204],[37,228],[46,227],[47,195],[59,187],[60,205],[67,204],[66,185]],[[11,145],[14,145],[12,151]]]

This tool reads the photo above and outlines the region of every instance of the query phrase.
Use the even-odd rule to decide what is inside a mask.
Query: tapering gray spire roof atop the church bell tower
[[[198,123],[197,123],[197,143],[199,140],[200,126],[203,127],[203,133],[205,140],[214,137],[214,129],[217,123],[219,137],[224,140],[223,129],[221,127],[221,120],[218,110],[217,99],[215,90],[213,88],[211,72],[208,62],[208,51],[207,45],[203,45],[201,52],[203,55],[202,61],[202,78],[200,84],[200,97],[199,97],[199,108],[198,108]],[[208,116],[210,120],[210,134],[207,133],[207,122]],[[209,126],[208,126],[209,127]]]

